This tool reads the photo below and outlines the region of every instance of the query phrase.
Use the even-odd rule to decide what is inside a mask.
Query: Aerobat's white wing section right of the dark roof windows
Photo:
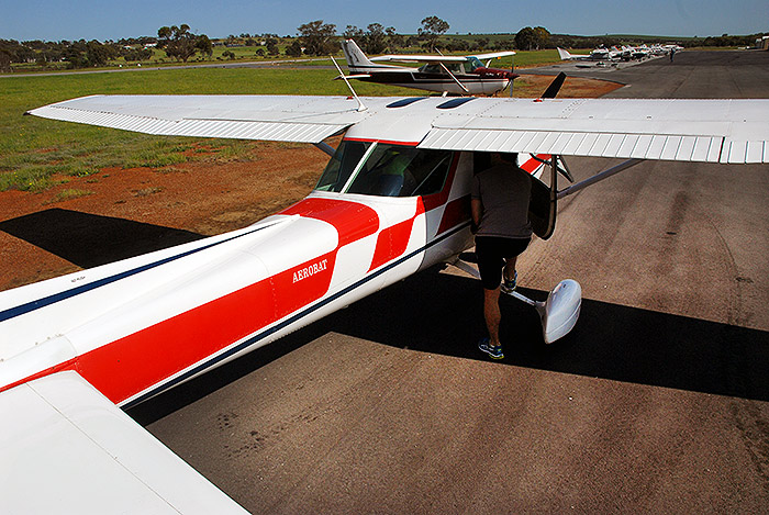
[[[497,100],[436,116],[421,148],[768,163],[768,100]]]

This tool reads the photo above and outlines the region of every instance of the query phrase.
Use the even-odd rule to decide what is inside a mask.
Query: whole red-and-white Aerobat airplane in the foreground
[[[254,225],[0,292],[4,513],[242,513],[120,407],[425,268],[472,270],[459,258],[487,153],[550,165],[549,186],[533,179],[542,237],[559,198],[645,159],[769,163],[769,100],[93,96],[30,114],[332,157],[307,199]],[[562,156],[625,161],[558,189]],[[579,286],[532,303],[553,342],[577,321]]]

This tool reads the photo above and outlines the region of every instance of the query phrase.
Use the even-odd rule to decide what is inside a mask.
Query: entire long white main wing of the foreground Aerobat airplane
[[[317,143],[352,125],[421,148],[769,163],[769,100],[86,97],[30,111],[151,134]],[[408,117],[408,123],[399,123]],[[400,119],[399,119],[400,117]]]

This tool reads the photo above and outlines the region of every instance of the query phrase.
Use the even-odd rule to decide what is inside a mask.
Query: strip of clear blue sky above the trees
[[[709,36],[769,31],[769,0],[0,0],[2,40],[120,40],[155,36],[164,25],[187,23],[209,37],[277,33],[296,35],[314,20],[370,23],[416,33],[436,15],[448,34],[516,33],[544,26],[575,35]]]

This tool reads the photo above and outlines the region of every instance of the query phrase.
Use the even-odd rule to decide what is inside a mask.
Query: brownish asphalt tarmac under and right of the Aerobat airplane
[[[767,52],[611,75],[612,97],[769,97]],[[505,299],[484,359],[480,284],[430,270],[130,414],[253,513],[766,513],[768,171],[649,161],[564,200],[519,265],[539,299],[582,286],[550,346]]]

